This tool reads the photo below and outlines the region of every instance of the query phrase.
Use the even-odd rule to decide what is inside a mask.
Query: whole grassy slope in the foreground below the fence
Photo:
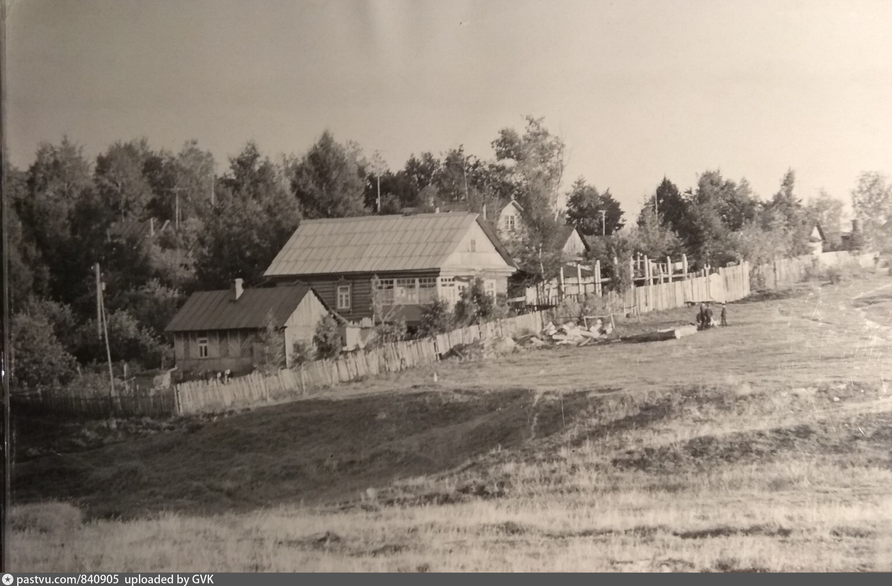
[[[890,309],[888,276],[805,283],[689,338],[441,362],[34,458],[12,569],[889,571]]]

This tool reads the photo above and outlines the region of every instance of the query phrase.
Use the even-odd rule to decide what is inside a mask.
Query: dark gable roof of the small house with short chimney
[[[273,324],[279,328],[285,325],[308,293],[316,295],[310,287],[300,285],[244,289],[234,301],[229,289],[198,291],[186,300],[186,305],[173,316],[164,331],[264,328],[270,312]],[[321,298],[319,301],[325,305]]]

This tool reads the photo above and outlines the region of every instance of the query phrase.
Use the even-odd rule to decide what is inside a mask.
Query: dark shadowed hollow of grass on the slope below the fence
[[[564,428],[579,408],[526,389],[422,392],[266,407],[200,428],[17,465],[13,501],[74,501],[88,517],[197,514],[284,501],[332,503],[434,474]],[[563,405],[584,401],[565,395]],[[538,404],[537,404],[538,403]]]

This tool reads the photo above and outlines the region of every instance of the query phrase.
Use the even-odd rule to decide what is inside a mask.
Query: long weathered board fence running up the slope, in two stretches
[[[649,313],[705,300],[737,301],[747,297],[751,287],[776,289],[801,281],[809,267],[815,265],[869,267],[872,264],[872,254],[855,256],[848,252],[783,258],[753,267],[743,262],[708,275],[694,277],[691,273],[681,281],[634,287],[622,294],[609,292],[600,299],[615,313]],[[384,372],[407,370],[436,362],[442,354],[460,344],[538,332],[543,325],[543,313],[525,313],[452,330],[432,338],[394,342],[374,350],[342,354],[336,359],[308,362],[298,369],[280,370],[270,376],[255,372],[226,382],[193,381],[164,389],[134,390],[127,395],[112,397],[74,396],[62,390],[49,390],[21,397],[21,400],[40,404],[52,411],[87,417],[163,417],[227,411],[298,398]]]

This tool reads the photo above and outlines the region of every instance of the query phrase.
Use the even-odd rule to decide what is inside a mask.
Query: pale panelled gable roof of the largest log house
[[[477,223],[509,266],[508,250],[478,214],[360,216],[304,220],[264,276],[375,273],[440,268]]]

